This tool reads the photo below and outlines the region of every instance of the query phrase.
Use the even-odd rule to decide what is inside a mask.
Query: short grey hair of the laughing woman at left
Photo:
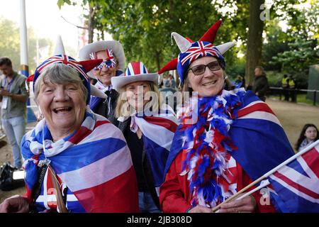
[[[89,95],[88,90],[79,76],[79,72],[65,64],[52,64],[45,67],[34,85],[33,94],[35,101],[38,99],[41,84],[45,84],[46,82],[51,82],[52,84],[79,84],[84,94],[84,102],[86,102],[87,96]]]

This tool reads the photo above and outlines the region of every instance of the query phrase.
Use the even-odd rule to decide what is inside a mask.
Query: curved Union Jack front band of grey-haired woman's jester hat
[[[39,67],[37,68],[37,70],[35,72],[33,82],[35,82],[35,80],[40,75],[42,70],[45,69],[45,67],[47,67],[48,65],[51,65],[51,64],[56,64],[56,63],[62,63],[65,65],[69,65],[70,67],[73,67],[80,74],[82,74],[82,76],[86,79],[86,81],[89,80],[86,73],[84,72],[82,65],[79,62],[77,62],[77,60],[74,60],[74,58],[69,57],[67,55],[55,55],[55,56],[50,57],[49,59],[45,60],[45,62],[43,62],[41,65],[39,65]]]

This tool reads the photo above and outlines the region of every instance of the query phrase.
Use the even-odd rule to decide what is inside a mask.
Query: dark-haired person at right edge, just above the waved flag
[[[301,151],[316,140],[319,140],[318,128],[313,123],[306,123],[299,135],[295,148],[297,151]]]

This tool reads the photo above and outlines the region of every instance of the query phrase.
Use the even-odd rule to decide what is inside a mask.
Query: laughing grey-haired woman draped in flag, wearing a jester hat
[[[91,91],[86,72],[96,62],[101,61],[56,55],[35,71],[35,100],[44,118],[21,143],[27,193],[6,199],[0,212],[138,211],[123,134],[86,109]]]

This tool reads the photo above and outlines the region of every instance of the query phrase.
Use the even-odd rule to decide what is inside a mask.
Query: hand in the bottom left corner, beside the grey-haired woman
[[[23,196],[11,196],[0,204],[0,213],[27,213],[29,204]]]

